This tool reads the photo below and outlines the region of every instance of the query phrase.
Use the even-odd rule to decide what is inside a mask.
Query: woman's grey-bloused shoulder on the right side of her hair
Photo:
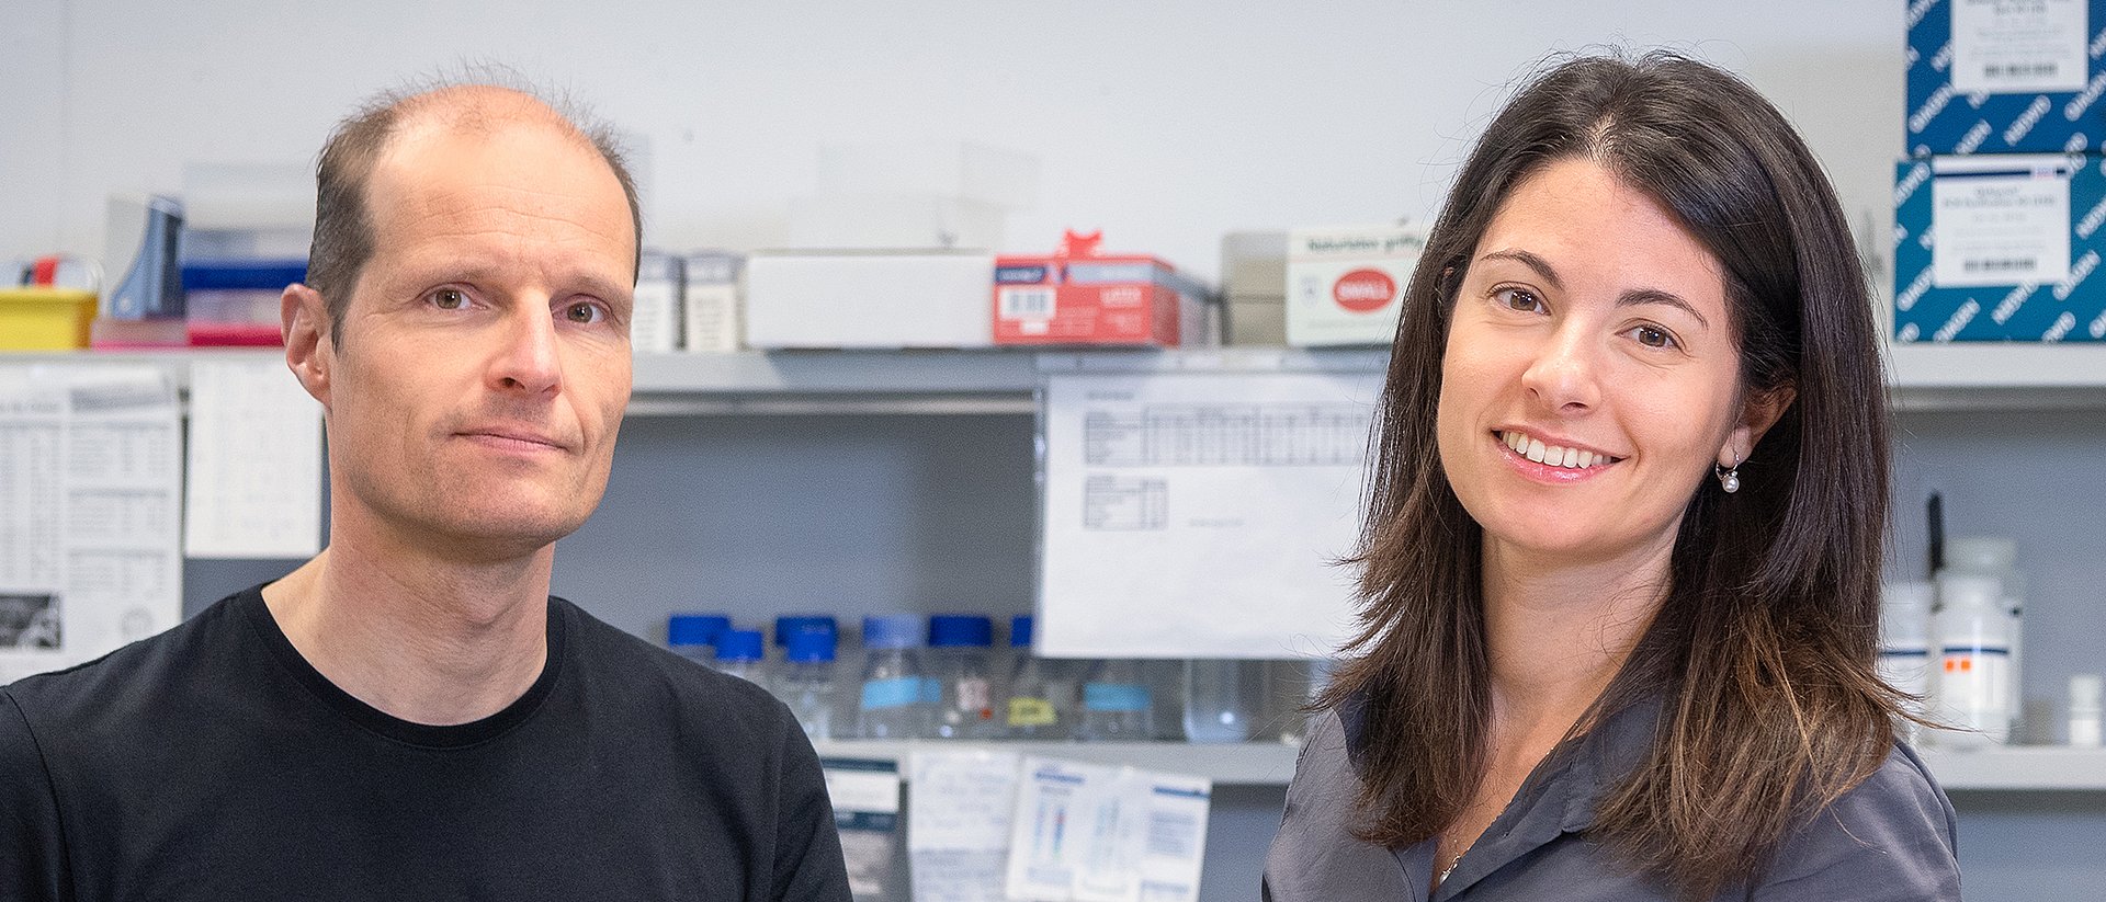
[[[1959,900],[1956,826],[1938,778],[1895,742],[1872,776],[1777,845],[1752,896]]]

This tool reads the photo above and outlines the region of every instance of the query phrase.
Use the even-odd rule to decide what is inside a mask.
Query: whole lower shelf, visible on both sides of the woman
[[[1192,774],[1224,786],[1285,786],[1302,751],[1287,742],[819,740],[815,746],[830,759],[899,761],[901,780],[916,749],[988,749]],[[1952,793],[2106,793],[2106,749],[1919,749],[1919,755]]]

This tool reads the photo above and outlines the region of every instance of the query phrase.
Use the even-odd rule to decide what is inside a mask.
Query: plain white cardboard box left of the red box
[[[992,347],[994,254],[764,250],[746,261],[746,345]]]

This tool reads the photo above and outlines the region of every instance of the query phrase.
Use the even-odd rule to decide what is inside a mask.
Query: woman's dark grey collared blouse
[[[1352,837],[1358,776],[1337,713],[1310,732],[1266,856],[1268,902],[1350,900],[1674,900],[1660,881],[1615,866],[1590,835],[1596,801],[1645,753],[1655,704],[1609,717],[1552,753],[1428,900],[1434,839],[1386,849]],[[1718,900],[1959,900],[1952,803],[1916,753],[1895,744],[1864,784],[1788,835],[1752,885]]]

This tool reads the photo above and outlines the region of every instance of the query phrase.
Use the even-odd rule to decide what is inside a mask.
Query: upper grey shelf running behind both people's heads
[[[160,364],[179,385],[200,355],[280,349],[38,351],[0,364]],[[2106,345],[1895,345],[1895,410],[2106,408]],[[733,351],[636,357],[630,412],[682,414],[1030,414],[1045,370],[1382,368],[1382,349],[910,349]]]

